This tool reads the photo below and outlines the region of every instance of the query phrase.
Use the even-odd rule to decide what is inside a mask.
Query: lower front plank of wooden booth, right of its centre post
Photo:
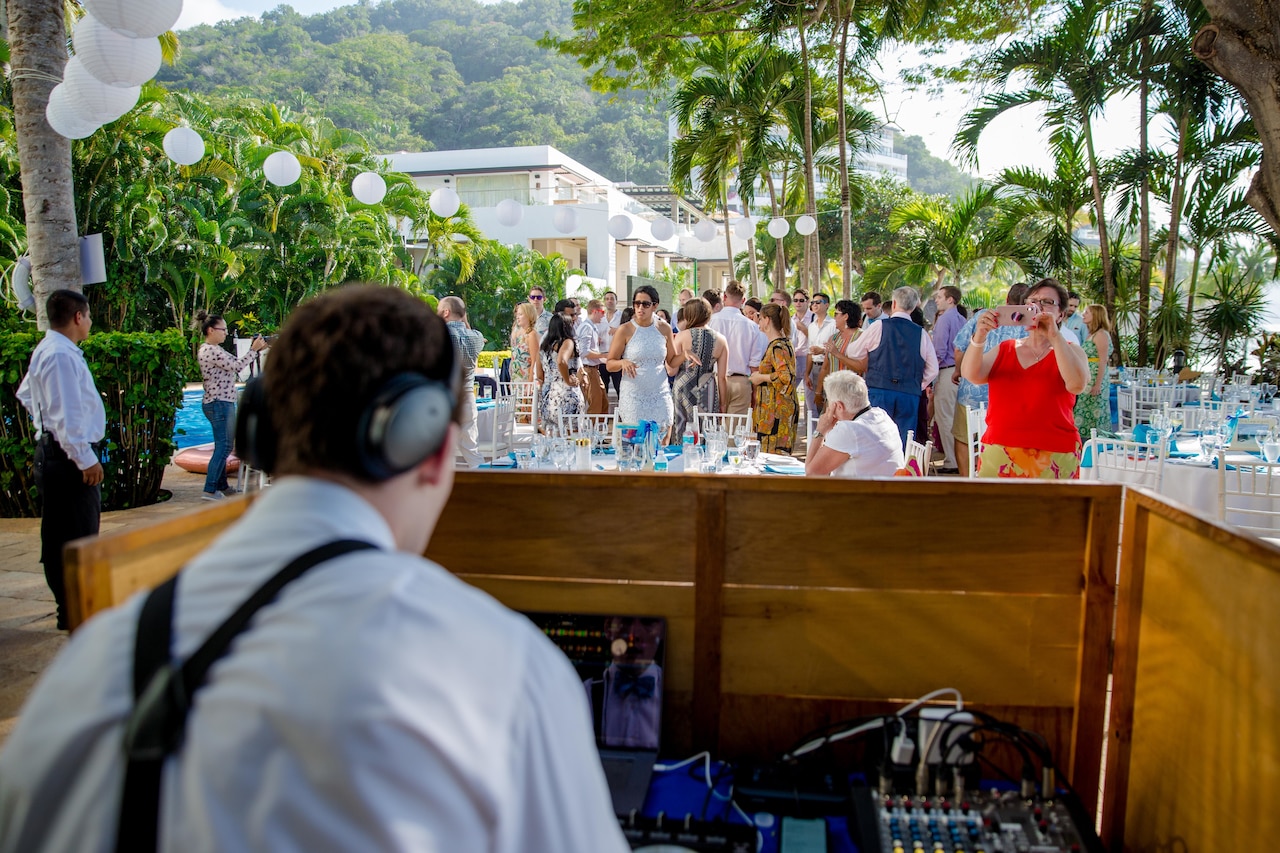
[[[1070,707],[1079,597],[730,587],[726,692]]]

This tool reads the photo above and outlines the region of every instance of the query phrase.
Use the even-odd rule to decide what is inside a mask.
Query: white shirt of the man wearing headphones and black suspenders
[[[175,654],[339,538],[387,551],[285,587],[212,667],[164,768],[160,849],[626,850],[564,654],[390,551],[381,515],[340,485],[282,479],[183,571]],[[114,848],[141,605],[90,620],[23,708],[0,753],[0,853]]]

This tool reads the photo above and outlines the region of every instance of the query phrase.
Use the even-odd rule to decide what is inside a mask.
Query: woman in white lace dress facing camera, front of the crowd
[[[653,420],[658,434],[671,429],[671,386],[667,384],[667,361],[676,357],[671,325],[657,314],[658,291],[641,284],[631,297],[635,316],[618,327],[609,345],[609,370],[622,371],[618,391],[618,423],[639,424]]]

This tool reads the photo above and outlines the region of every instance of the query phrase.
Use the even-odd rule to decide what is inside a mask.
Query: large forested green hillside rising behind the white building
[[[591,92],[572,59],[538,46],[571,28],[570,10],[393,0],[307,17],[282,5],[183,31],[177,65],[157,79],[323,111],[378,151],[552,145],[617,181],[664,182],[660,105]]]

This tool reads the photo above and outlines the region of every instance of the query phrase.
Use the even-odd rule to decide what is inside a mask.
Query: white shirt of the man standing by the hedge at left
[[[37,437],[49,433],[56,438],[82,471],[97,465],[90,444],[106,435],[106,409],[84,353],[70,338],[54,329],[45,332],[17,396],[31,412]]]

